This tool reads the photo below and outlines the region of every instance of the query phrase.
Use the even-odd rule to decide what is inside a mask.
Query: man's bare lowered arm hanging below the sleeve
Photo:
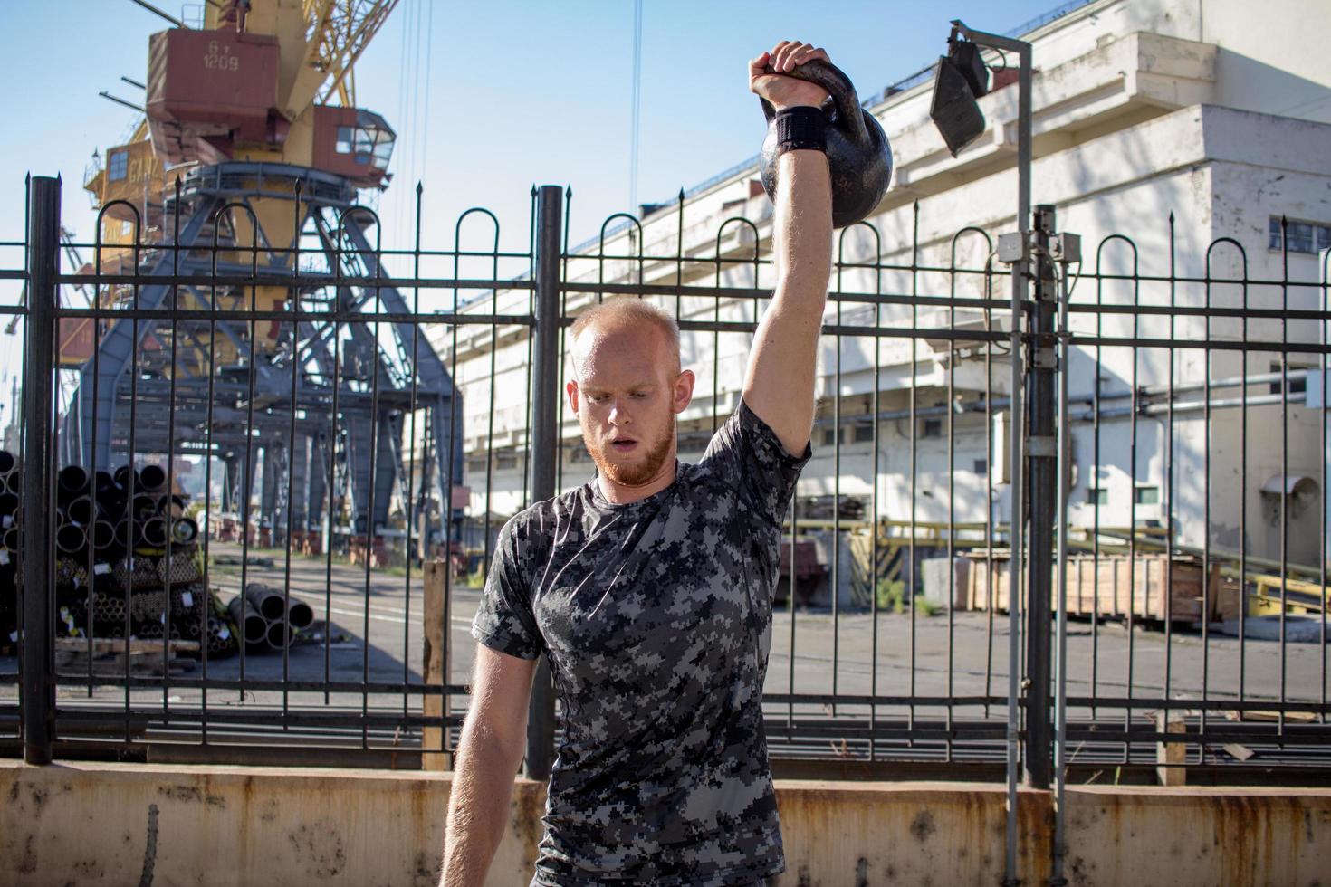
[[[527,735],[535,660],[476,644],[471,707],[454,755],[441,887],[480,887],[508,828],[512,778]]]

